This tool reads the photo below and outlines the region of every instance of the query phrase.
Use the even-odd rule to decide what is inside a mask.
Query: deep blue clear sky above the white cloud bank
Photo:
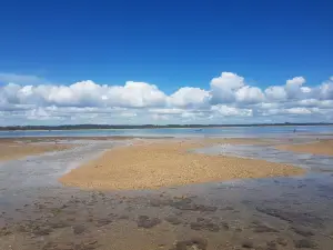
[[[169,97],[182,87],[211,91],[213,78],[233,72],[263,92],[295,77],[317,89],[333,74],[332,12],[329,0],[2,1],[0,86],[134,81],[155,84]],[[315,94],[310,99],[331,100],[331,92]],[[27,104],[22,98],[7,102]]]

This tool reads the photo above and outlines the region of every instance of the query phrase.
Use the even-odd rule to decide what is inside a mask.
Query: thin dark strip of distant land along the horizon
[[[278,126],[333,126],[327,122],[316,123],[252,123],[252,124],[61,124],[61,126],[6,126],[0,131],[14,130],[83,130],[83,129],[178,129],[178,128],[231,128],[231,127],[278,127]]]

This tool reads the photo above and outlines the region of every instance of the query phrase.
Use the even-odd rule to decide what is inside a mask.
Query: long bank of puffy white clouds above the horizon
[[[167,94],[157,84],[92,80],[52,84],[33,76],[0,73],[0,126],[60,123],[258,123],[333,120],[333,77],[306,86],[304,77],[261,89],[234,72],[206,89]]]

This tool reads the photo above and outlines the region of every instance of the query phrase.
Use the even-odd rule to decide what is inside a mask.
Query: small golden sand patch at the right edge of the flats
[[[312,153],[322,156],[333,156],[333,140],[319,140],[303,144],[282,144],[276,147],[280,150],[287,150],[300,153]]]

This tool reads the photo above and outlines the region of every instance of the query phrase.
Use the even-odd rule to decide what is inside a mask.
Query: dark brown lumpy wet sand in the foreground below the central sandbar
[[[330,198],[327,183],[316,193],[321,196],[307,201],[313,186],[276,181],[244,188],[44,193],[17,208],[22,221],[6,219],[0,249],[331,249],[332,200],[322,211],[316,200]]]

